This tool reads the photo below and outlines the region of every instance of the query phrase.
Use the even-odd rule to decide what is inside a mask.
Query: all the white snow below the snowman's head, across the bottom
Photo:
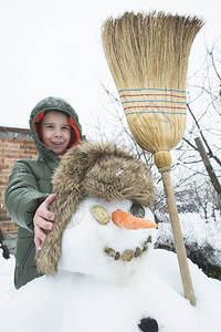
[[[2,332],[138,332],[138,320],[148,315],[157,320],[160,332],[220,331],[221,282],[190,262],[197,297],[192,307],[182,297],[177,257],[166,250],[156,249],[145,276],[120,287],[78,273],[42,277],[15,291],[8,313],[2,307],[14,293],[13,259],[1,258],[0,269]]]

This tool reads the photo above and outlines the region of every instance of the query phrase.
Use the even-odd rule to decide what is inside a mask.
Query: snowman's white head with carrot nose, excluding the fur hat
[[[64,230],[59,269],[126,280],[143,269],[154,248],[152,220],[149,208],[131,200],[87,197]]]

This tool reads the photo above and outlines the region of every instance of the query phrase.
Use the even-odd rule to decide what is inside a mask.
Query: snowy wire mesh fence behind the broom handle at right
[[[187,256],[204,272],[221,277],[221,217],[204,220],[200,212],[179,214]],[[157,212],[157,248],[176,251],[171,225],[167,214]]]

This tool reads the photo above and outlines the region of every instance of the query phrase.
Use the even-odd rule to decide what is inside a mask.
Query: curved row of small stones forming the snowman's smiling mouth
[[[114,260],[123,260],[123,261],[131,261],[138,257],[141,257],[148,250],[148,243],[151,243],[152,239],[151,236],[145,240],[145,242],[140,247],[136,247],[136,249],[126,249],[124,252],[116,251],[113,248],[105,247],[104,252],[112,257]]]

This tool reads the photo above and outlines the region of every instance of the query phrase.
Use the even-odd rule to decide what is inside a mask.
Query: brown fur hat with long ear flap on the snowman
[[[52,184],[57,198],[51,210],[56,219],[36,255],[38,269],[46,274],[56,272],[62,234],[85,197],[107,201],[130,199],[151,208],[156,193],[146,165],[127,151],[108,143],[82,142],[67,151]]]

